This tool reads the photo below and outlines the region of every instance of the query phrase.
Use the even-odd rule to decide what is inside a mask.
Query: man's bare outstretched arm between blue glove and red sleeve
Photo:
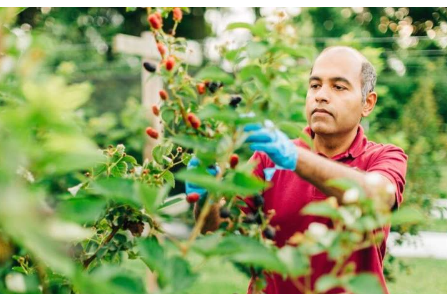
[[[327,196],[335,196],[339,203],[343,201],[344,191],[326,186],[325,183],[331,179],[348,178],[357,182],[366,192],[367,196],[377,195],[378,188],[392,185],[391,181],[380,175],[381,183],[369,185],[366,181],[367,173],[355,170],[342,163],[319,156],[307,149],[298,148],[298,161],[295,172],[304,180],[308,181]],[[386,203],[392,208],[395,203],[395,196],[387,192]]]

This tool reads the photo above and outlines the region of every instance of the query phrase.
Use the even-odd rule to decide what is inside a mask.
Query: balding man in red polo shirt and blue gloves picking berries
[[[310,150],[301,140],[289,140],[280,131],[249,126],[247,142],[256,151],[251,160],[258,162],[254,173],[271,178],[273,187],[264,192],[264,211],[275,210],[272,226],[279,226],[275,236],[281,247],[296,232],[304,232],[310,223],[321,218],[305,216],[300,210],[312,201],[335,196],[341,203],[343,191],[328,187],[325,182],[349,178],[374,197],[377,185],[368,184],[367,175],[377,172],[380,185],[392,185],[386,203],[390,209],[399,207],[405,185],[407,156],[402,149],[368,141],[360,125],[374,109],[376,74],[371,63],[350,47],[330,47],[316,59],[312,68],[306,98],[308,126],[305,132],[313,140]],[[278,169],[278,167],[281,167]],[[390,190],[390,189],[388,189]],[[394,191],[393,191],[394,190]],[[394,192],[394,193],[393,193]],[[251,206],[250,200],[247,204]],[[218,223],[216,213],[208,217],[208,229]],[[371,272],[379,278],[384,292],[383,257],[389,227],[383,228],[385,240],[379,247],[355,252],[350,261],[357,272]],[[326,254],[311,260],[311,282],[328,273],[333,262]],[[250,291],[250,290],[249,290]],[[267,294],[300,293],[279,275],[267,278]]]

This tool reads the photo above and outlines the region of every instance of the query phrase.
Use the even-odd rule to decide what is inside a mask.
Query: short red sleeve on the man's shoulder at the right
[[[401,148],[388,144],[384,145],[367,169],[367,172],[380,173],[394,184],[396,203],[393,209],[398,208],[403,201],[407,160],[408,156]]]

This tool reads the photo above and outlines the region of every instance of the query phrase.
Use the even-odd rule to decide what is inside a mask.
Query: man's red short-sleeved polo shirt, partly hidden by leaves
[[[314,133],[309,126],[307,126],[304,131],[309,134],[311,138],[314,137]],[[293,140],[293,142],[297,146],[310,149],[309,146],[300,139]],[[318,155],[326,157],[321,153],[318,153]],[[368,141],[364,135],[362,126],[359,125],[357,135],[348,150],[331,159],[363,171],[379,172],[395,185],[397,206],[402,202],[407,168],[407,155],[401,148],[390,144],[377,144]],[[258,162],[254,174],[263,179],[263,170],[275,166],[263,152],[255,152],[252,156],[252,160]],[[276,212],[271,224],[273,226],[279,226],[280,228],[275,236],[277,246],[284,246],[286,241],[294,233],[304,232],[312,222],[319,222],[330,226],[330,220],[328,219],[302,215],[300,213],[300,210],[310,202],[326,198],[326,196],[315,186],[306,182],[295,172],[290,170],[277,170],[271,182],[273,186],[263,194],[265,202],[264,211],[267,212],[270,209],[274,209]],[[250,207],[253,207],[251,199],[246,198],[246,202]],[[383,257],[385,255],[386,239],[390,228],[385,227],[382,230],[385,234],[385,239],[380,246],[374,246],[354,252],[349,261],[354,261],[356,263],[357,272],[370,272],[377,275],[383,285],[384,293],[388,293],[383,276]],[[312,287],[318,277],[330,272],[333,265],[334,263],[327,258],[326,253],[312,257]],[[251,293],[250,289],[251,283],[248,293]],[[281,276],[273,275],[267,277],[265,293],[298,294],[301,292],[298,291],[289,280],[284,281]]]

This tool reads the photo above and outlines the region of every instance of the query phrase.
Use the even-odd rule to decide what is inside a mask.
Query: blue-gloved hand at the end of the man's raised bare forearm
[[[267,153],[275,163],[275,169],[295,170],[298,148],[286,134],[276,129],[271,121],[266,121],[265,126],[248,124],[244,127],[244,131],[249,132],[245,142],[252,143],[250,149]]]

